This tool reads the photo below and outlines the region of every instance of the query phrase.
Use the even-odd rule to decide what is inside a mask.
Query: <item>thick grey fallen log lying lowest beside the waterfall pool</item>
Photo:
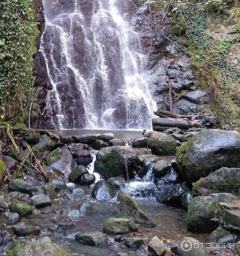
[[[168,128],[178,127],[178,128],[191,128],[194,126],[202,126],[202,122],[191,121],[187,118],[153,118],[152,119],[152,127],[154,131],[161,132]],[[165,129],[164,129],[165,128]]]

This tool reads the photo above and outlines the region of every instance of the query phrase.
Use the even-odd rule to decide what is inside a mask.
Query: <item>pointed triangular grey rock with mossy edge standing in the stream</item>
[[[117,196],[118,218],[127,218],[133,220],[136,224],[154,227],[155,224],[140,209],[136,201],[124,191],[120,190]]]

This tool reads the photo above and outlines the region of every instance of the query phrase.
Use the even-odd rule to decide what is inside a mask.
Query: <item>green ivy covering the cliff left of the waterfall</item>
[[[32,91],[32,55],[38,29],[32,0],[0,5],[0,106],[9,117],[22,114]]]

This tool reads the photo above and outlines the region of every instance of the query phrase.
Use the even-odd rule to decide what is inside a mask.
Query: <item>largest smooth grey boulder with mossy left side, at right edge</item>
[[[177,151],[181,175],[190,183],[221,167],[240,167],[240,134],[208,129],[198,132]]]

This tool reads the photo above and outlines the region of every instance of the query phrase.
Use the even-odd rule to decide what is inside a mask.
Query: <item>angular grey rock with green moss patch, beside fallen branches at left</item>
[[[66,148],[57,148],[45,157],[48,166],[57,169],[66,176],[77,167],[71,152]]]

